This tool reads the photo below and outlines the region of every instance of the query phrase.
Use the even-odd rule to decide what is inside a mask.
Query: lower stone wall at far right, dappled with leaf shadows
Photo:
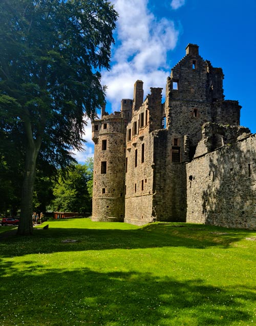
[[[256,228],[256,134],[186,164],[187,222]]]

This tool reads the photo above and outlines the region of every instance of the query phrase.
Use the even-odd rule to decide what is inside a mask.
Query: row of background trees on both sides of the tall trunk
[[[21,172],[21,171],[20,171]],[[84,165],[71,164],[54,174],[37,171],[33,211],[78,212],[92,211],[93,159]],[[22,174],[11,170],[6,161],[0,165],[0,214],[16,216],[20,209]]]

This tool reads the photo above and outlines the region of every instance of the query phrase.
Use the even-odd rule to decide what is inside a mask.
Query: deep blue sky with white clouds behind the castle
[[[133,98],[133,85],[144,81],[163,87],[188,43],[224,72],[225,99],[239,100],[240,124],[256,133],[256,2],[254,0],[113,0],[119,13],[112,49],[112,69],[102,72],[108,86],[108,112],[119,111],[122,98]],[[83,163],[93,156],[91,125],[87,145],[76,153]]]

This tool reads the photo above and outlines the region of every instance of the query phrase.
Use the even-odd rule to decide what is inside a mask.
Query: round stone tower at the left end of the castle
[[[124,219],[125,126],[121,112],[106,114],[93,124],[93,221]]]

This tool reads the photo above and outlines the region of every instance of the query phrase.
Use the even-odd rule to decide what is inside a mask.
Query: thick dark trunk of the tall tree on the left
[[[35,146],[33,146],[33,148],[27,148],[26,151],[25,173],[23,178],[22,200],[20,205],[20,221],[17,231],[17,234],[20,235],[33,234],[33,191],[38,151],[39,149],[37,149]]]

